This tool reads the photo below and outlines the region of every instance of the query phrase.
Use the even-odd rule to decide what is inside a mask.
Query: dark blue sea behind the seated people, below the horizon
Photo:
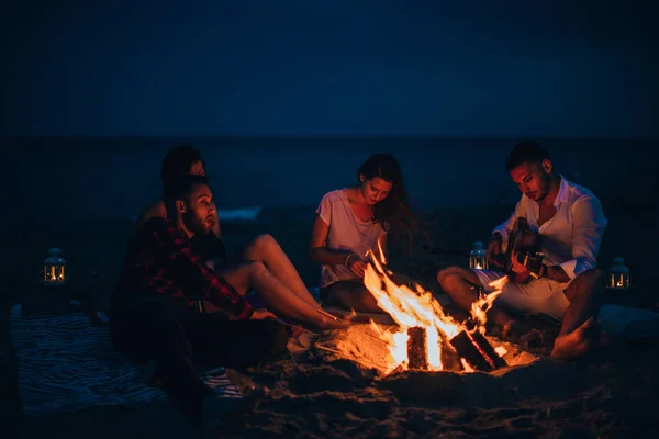
[[[4,138],[4,177],[23,224],[132,218],[160,194],[160,162],[181,142],[202,153],[220,210],[315,207],[356,181],[375,153],[393,154],[423,210],[512,204],[513,138]],[[596,194],[656,184],[652,139],[540,139],[557,171]],[[9,165],[9,166],[8,166]],[[648,177],[650,176],[650,177]],[[238,212],[236,214],[236,212]]]

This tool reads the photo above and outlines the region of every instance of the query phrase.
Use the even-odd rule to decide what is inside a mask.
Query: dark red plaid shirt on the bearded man
[[[129,243],[116,294],[126,299],[137,292],[165,294],[188,306],[208,300],[237,318],[253,313],[228,282],[203,264],[190,239],[160,217],[147,221]]]

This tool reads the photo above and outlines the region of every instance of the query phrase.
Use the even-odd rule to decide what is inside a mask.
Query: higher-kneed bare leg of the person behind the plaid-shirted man
[[[298,270],[272,236],[257,236],[243,250],[243,258],[261,262],[279,282],[288,286],[298,297],[312,306],[317,306],[316,300],[309,293]]]

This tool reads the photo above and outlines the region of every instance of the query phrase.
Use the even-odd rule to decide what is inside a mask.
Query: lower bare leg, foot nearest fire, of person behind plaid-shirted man
[[[319,313],[321,309],[319,303],[314,302],[312,305],[302,300],[281,283],[261,262],[245,262],[227,267],[220,271],[220,275],[242,295],[252,289],[256,291],[271,311],[279,316],[305,322],[322,329],[342,328],[347,325],[346,322],[330,319]]]

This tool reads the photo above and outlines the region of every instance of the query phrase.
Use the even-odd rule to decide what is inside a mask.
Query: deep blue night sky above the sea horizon
[[[9,0],[0,134],[659,136],[651,2],[537,3]]]

